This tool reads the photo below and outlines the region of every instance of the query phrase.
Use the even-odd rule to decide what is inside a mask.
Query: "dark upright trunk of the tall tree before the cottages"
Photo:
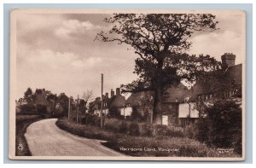
[[[162,113],[162,68],[163,61],[158,61],[156,86],[154,90],[154,108],[153,108],[153,122],[154,124],[161,124]]]

